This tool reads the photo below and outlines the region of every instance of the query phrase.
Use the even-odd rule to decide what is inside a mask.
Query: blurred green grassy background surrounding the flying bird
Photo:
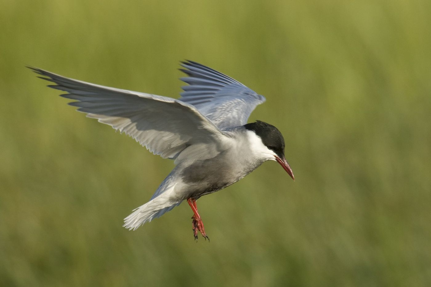
[[[10,1],[0,10],[1,286],[430,286],[431,2]],[[267,97],[273,162],[121,227],[172,169],[24,65],[178,97],[178,60]]]

